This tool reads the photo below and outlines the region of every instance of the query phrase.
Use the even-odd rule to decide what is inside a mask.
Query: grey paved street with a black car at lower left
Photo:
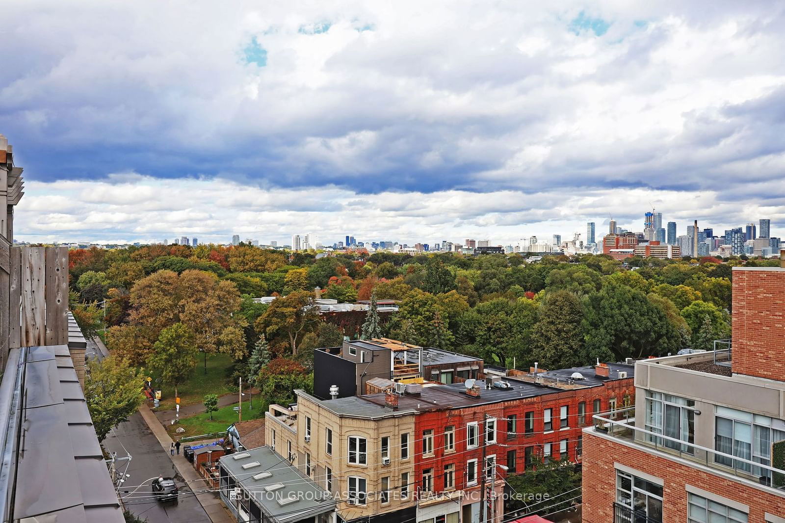
[[[199,500],[191,493],[191,488],[181,481],[170,456],[166,455],[161,444],[138,412],[132,415],[127,422],[121,423],[115,429],[114,435],[109,433],[104,441],[104,447],[109,452],[117,452],[118,457],[126,455],[126,450],[122,445],[125,445],[125,448],[133,456],[126,471],[126,474],[131,474],[131,477],[126,480],[126,485],[132,485],[132,488],[121,488],[120,497],[129,496],[123,501],[133,514],[143,520],[147,518],[150,523],[169,523],[170,521],[173,523],[210,523],[210,518],[207,517]],[[125,468],[126,463],[121,462],[118,467],[119,473],[122,473]],[[150,496],[149,483],[153,477],[157,477],[159,474],[177,477],[177,483],[180,485],[180,499],[177,503],[159,503],[155,499],[144,497]],[[133,494],[124,492],[126,490],[133,491],[136,485],[140,485],[143,481],[147,485],[139,488],[138,492]],[[195,488],[205,487],[202,482],[199,482]]]

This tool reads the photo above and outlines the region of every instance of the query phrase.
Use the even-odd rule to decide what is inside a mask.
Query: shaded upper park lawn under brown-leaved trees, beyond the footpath
[[[187,382],[177,387],[180,394],[180,406],[202,403],[206,394],[221,396],[237,393],[237,386],[226,382],[226,369],[232,366],[232,357],[228,354],[211,354],[207,356],[207,374],[204,372],[203,356],[199,355],[199,364]],[[162,389],[161,407],[166,411],[174,408],[174,387],[164,386]]]

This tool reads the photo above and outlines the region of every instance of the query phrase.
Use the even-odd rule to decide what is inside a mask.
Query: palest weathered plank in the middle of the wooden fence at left
[[[22,331],[23,347],[46,344],[46,256],[44,247],[23,247],[22,251]]]

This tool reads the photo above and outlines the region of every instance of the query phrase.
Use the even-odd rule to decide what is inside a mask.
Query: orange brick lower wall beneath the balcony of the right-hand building
[[[734,274],[734,279],[736,275]],[[685,485],[714,492],[750,507],[750,523],[765,521],[764,514],[785,517],[785,499],[670,459],[630,448],[604,437],[585,433],[583,437],[583,523],[613,521],[615,466],[622,463],[663,480],[663,521],[687,521]]]

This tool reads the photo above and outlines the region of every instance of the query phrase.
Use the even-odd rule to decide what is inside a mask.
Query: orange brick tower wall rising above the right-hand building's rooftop
[[[733,269],[733,371],[785,380],[785,269]]]

